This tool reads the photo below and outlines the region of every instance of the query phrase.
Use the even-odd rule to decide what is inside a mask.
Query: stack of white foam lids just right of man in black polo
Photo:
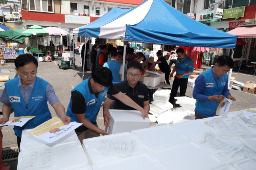
[[[156,117],[165,113],[173,107],[173,105],[168,102],[170,98],[171,90],[158,88],[153,94],[154,101],[150,104],[150,113]]]

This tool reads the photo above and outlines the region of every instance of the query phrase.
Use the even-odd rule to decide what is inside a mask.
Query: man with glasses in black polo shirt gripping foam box
[[[142,72],[142,64],[138,61],[130,61],[127,64],[127,80],[119,82],[114,86],[120,90],[123,94],[126,94],[130,97],[136,104],[142,107],[145,112],[148,114],[150,106],[149,106],[149,95],[148,88],[145,84],[139,82],[140,75]],[[114,102],[115,101],[115,102]],[[109,95],[108,99],[103,104],[103,117],[105,126],[110,126],[108,119],[110,116],[108,115],[108,109],[110,109],[110,105],[114,102],[113,109],[121,109],[121,110],[136,110],[133,107],[127,106],[122,103],[120,100],[116,99],[114,96]]]

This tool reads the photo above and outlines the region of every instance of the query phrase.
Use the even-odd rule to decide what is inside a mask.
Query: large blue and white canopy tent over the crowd
[[[116,7],[92,23],[74,29],[73,34],[142,43],[228,49],[235,48],[237,40],[236,35],[195,21],[163,0],[146,0],[128,9]],[[124,67],[122,71],[124,73]]]

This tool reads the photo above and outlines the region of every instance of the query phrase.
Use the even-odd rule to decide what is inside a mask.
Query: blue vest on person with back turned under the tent
[[[119,76],[119,70],[120,70],[121,65],[122,65],[121,63],[118,63],[115,60],[110,60],[107,63],[105,63],[105,67],[109,68],[112,72],[112,76],[113,76],[112,83],[113,84],[116,84],[121,81],[121,78]]]

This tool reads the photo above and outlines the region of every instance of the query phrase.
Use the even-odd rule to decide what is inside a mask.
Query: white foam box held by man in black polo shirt
[[[109,134],[131,132],[137,129],[150,127],[151,121],[148,117],[143,119],[138,110],[115,110],[108,109],[111,119],[108,119],[110,127],[106,126]]]

